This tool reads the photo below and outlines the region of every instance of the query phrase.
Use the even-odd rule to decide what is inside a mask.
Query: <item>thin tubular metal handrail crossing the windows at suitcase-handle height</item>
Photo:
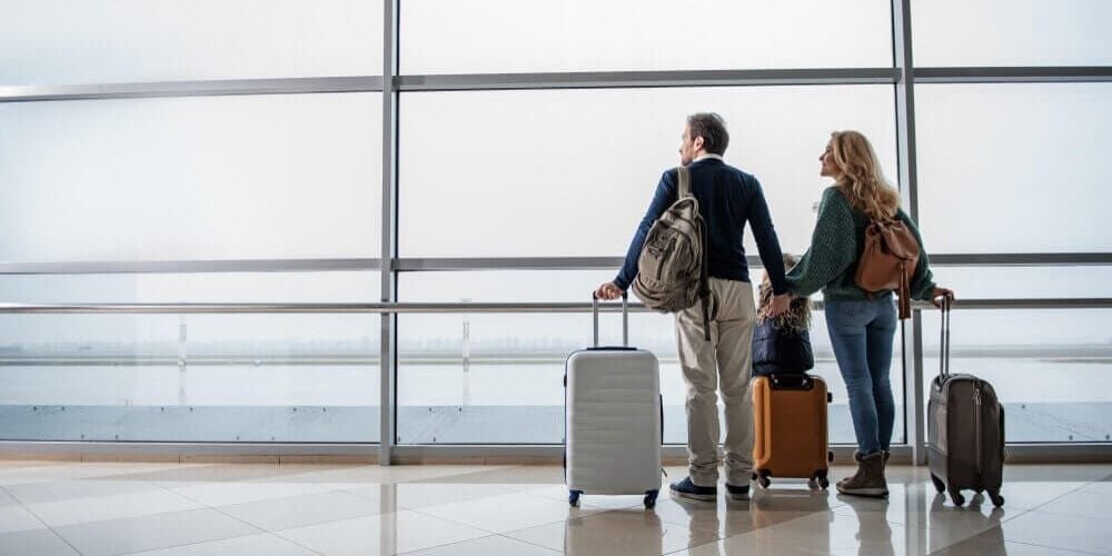
[[[586,294],[586,292],[585,292]],[[822,309],[822,301],[812,302]],[[589,302],[395,302],[395,304],[14,304],[0,302],[0,315],[11,314],[437,314],[437,312],[588,312]],[[599,310],[618,311],[616,301],[599,304]],[[933,309],[926,301],[916,309]],[[1035,298],[1035,299],[959,299],[954,309],[1108,309],[1112,298]],[[629,310],[651,312],[643,304],[629,304]]]

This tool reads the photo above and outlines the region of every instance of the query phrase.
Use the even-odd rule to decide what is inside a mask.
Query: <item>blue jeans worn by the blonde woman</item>
[[[826,301],[826,328],[850,394],[850,416],[861,455],[887,450],[895,401],[888,369],[896,331],[891,294],[872,301]]]

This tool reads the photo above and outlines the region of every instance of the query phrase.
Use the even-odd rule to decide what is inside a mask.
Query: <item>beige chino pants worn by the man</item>
[[[718,481],[717,391],[726,407],[726,483],[749,484],[753,473],[753,286],[711,278],[711,341],[703,332],[703,306],[676,314],[679,366],[687,386],[688,473],[698,486]]]

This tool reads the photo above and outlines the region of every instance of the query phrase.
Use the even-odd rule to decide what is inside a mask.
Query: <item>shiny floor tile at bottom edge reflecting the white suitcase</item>
[[[667,554],[713,542],[715,532],[689,529],[652,510],[614,510],[505,534],[569,555]]]

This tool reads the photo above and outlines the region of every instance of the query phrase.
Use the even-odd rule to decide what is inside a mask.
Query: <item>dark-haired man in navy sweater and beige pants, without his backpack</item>
[[[721,388],[726,406],[726,492],[734,499],[748,498],[753,473],[753,400],[749,394],[752,341],[756,309],[742,238],[749,222],[775,294],[772,315],[791,301],[784,280],[784,260],[761,183],[753,176],[726,165],[729,135],[716,113],[687,117],[679,143],[679,162],[691,172],[691,190],[706,221],[711,281],[711,341],[706,341],[703,307],[676,314],[679,365],[687,386],[688,477],[672,484],[676,496],[698,500],[717,498],[718,407]],[[667,170],[637,227],[625,264],[614,281],[596,290],[614,299],[637,275],[637,258],[653,222],[677,199],[678,171]]]

